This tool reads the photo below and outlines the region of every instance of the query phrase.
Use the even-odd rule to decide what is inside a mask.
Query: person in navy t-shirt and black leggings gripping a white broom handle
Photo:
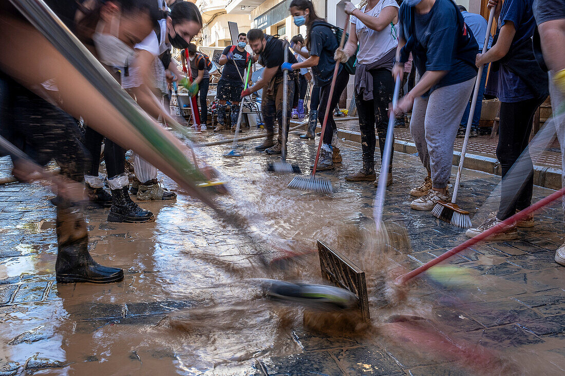
[[[502,191],[497,215],[479,227],[467,230],[468,237],[496,226],[532,202],[533,164],[528,152],[524,153],[517,167],[521,181],[517,183],[515,179],[505,178],[528,146],[533,115],[549,94],[547,73],[541,70],[533,54],[536,20],[532,3],[533,0],[489,0],[489,8],[495,7],[498,39],[489,51],[477,55],[476,65],[492,62],[498,65],[491,66],[490,74],[495,79],[498,74],[498,88],[493,94],[497,94],[501,102],[496,156],[502,167]],[[489,239],[515,239],[518,237],[516,226],[533,226],[533,216],[506,226]]]

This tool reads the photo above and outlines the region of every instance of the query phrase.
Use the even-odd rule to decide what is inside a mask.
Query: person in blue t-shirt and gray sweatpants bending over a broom
[[[479,46],[451,0],[405,0],[398,19],[393,77],[402,77],[412,53],[421,78],[394,111],[398,116],[414,106],[410,133],[428,170],[424,182],[410,191],[419,197],[410,207],[432,210],[438,200],[449,200],[453,143],[475,84]]]

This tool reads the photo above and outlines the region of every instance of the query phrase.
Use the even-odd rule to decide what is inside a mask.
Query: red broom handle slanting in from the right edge
[[[523,220],[526,216],[530,215],[531,213],[535,212],[536,210],[538,210],[538,209],[540,209],[544,206],[549,205],[551,202],[554,202],[555,200],[557,200],[558,198],[560,198],[563,195],[565,195],[565,187],[563,187],[562,189],[558,190],[555,193],[550,194],[546,198],[539,200],[537,203],[532,204],[531,206],[525,208],[523,211],[516,213],[515,215],[511,216],[510,218],[506,218],[506,220],[503,220],[498,225],[493,226],[492,228],[490,228],[486,231],[483,231],[479,235],[472,237],[468,241],[459,244],[457,247],[451,248],[451,250],[445,252],[443,255],[437,256],[435,259],[433,259],[431,261],[428,261],[424,265],[421,265],[419,268],[416,268],[416,269],[412,270],[411,272],[403,274],[402,276],[400,276],[396,279],[396,282],[399,283],[399,284],[406,283],[410,279],[418,276],[418,274],[425,272],[426,270],[428,270],[429,268],[431,268],[434,265],[437,265],[438,263],[441,263],[441,261],[449,259],[449,257],[451,257],[451,256],[455,255],[456,253],[459,253],[463,250],[466,250],[468,247],[471,247],[473,244],[480,242],[484,238],[486,238],[486,237],[488,237],[492,234],[498,233],[499,231],[502,231],[505,226],[509,226],[509,225],[514,224],[514,222],[516,222],[516,221]]]

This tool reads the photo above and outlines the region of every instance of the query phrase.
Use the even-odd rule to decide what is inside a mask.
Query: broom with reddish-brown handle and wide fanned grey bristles
[[[349,26],[349,15],[347,15],[345,19],[344,33],[341,34],[340,49],[344,48],[345,32],[347,30],[347,26]],[[324,121],[321,125],[320,141],[318,142],[318,151],[316,152],[316,159],[314,161],[314,169],[312,169],[312,176],[310,178],[303,176],[295,177],[289,183],[288,185],[289,188],[300,189],[304,191],[313,191],[316,193],[325,193],[325,194],[333,193],[332,183],[329,180],[316,178],[316,168],[318,168],[318,161],[320,160],[320,150],[321,150],[322,141],[324,139],[323,134],[325,131],[325,125],[328,123],[328,115],[329,112],[332,110],[329,104],[332,100],[333,89],[336,86],[337,72],[339,68],[340,68],[340,62],[336,62],[336,66],[333,68],[332,84],[329,87],[328,104],[325,107]]]

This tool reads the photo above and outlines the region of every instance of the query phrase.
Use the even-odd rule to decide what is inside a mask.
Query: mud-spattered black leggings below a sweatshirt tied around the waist
[[[369,71],[373,76],[373,99],[363,100],[363,96],[355,91],[355,103],[359,115],[359,128],[361,130],[361,150],[363,167],[371,169],[375,165],[375,126],[379,135],[379,148],[381,160],[386,141],[386,129],[388,128],[388,106],[392,102],[394,92],[394,80],[387,69],[374,69]],[[392,134],[394,145],[394,134]],[[390,155],[389,172],[392,172],[392,158],[394,147]]]

